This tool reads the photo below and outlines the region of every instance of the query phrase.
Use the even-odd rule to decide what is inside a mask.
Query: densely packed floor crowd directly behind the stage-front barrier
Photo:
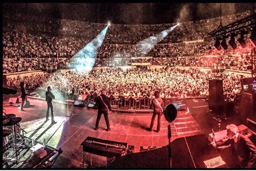
[[[114,98],[152,98],[154,91],[160,91],[161,98],[206,97],[209,94],[208,80],[216,77],[214,72],[201,72],[170,67],[161,69],[93,69],[86,74],[75,71],[58,71],[52,74],[32,75],[7,79],[7,85],[15,88],[21,81],[27,82],[26,89],[46,89],[49,85],[61,92],[98,95],[107,88],[108,96]],[[239,84],[241,75],[222,75],[224,95],[228,97]]]

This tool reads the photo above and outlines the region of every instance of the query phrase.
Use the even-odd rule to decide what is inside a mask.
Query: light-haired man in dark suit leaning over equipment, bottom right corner
[[[227,127],[228,140],[224,142],[213,143],[217,149],[230,148],[230,154],[235,157],[232,159],[232,168],[256,168],[256,147],[251,140],[238,133],[236,125],[231,124]]]

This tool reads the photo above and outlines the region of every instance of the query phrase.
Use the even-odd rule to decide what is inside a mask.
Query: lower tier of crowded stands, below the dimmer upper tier
[[[58,69],[72,67],[71,58],[86,42],[74,37],[57,38],[45,35],[34,36],[21,32],[5,32],[3,36],[3,73],[33,71],[57,66]],[[146,54],[148,61],[138,58],[136,62],[151,65],[182,65],[213,67],[214,64],[227,68],[251,70],[251,44],[247,48],[229,49],[223,55],[212,47],[213,42],[157,44]],[[129,65],[133,57],[140,57],[135,45],[103,44],[97,51],[95,66]],[[235,55],[235,57],[234,57]],[[114,59],[122,62],[115,64]],[[108,59],[108,60],[105,60]]]

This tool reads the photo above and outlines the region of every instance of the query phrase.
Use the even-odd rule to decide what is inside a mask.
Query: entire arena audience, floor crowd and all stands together
[[[228,15],[223,18],[222,24],[227,25],[249,14],[244,12]],[[212,18],[182,22],[143,56],[138,53],[136,43],[157,35],[175,24],[111,25],[102,46],[97,50],[94,66],[150,63],[150,65],[213,68],[214,65],[220,64],[229,69],[250,71],[252,67],[250,45],[245,49],[238,45],[235,50],[229,48],[226,51],[218,51],[213,47],[214,40],[204,40],[208,32],[216,29],[218,20],[219,18]],[[33,71],[45,69],[47,66],[57,66],[58,69],[74,68],[76,61],[71,60],[72,57],[106,27],[104,24],[76,20],[49,18],[38,20],[38,17],[26,14],[5,15],[4,23],[3,73]],[[33,27],[35,23],[37,25]],[[143,58],[144,56],[147,58]],[[17,87],[21,80],[25,82],[30,80],[27,88],[36,89],[47,81],[47,84],[55,86],[60,91],[79,92],[82,89],[83,94],[87,95],[97,94],[107,85],[110,90],[108,93],[114,97],[150,98],[155,90],[161,91],[161,97],[164,98],[201,97],[208,94],[207,80],[213,78],[213,72],[205,74],[197,69],[188,71],[173,67],[168,69],[169,71],[148,69],[127,72],[122,72],[120,69],[94,69],[86,75],[79,75],[74,71],[45,73],[23,79],[20,77],[7,79],[7,84],[9,87]],[[230,89],[237,85],[237,77],[226,80],[227,77],[227,75],[223,76],[225,95],[229,95]],[[57,80],[65,83],[58,83]],[[40,88],[45,89],[43,86]]]

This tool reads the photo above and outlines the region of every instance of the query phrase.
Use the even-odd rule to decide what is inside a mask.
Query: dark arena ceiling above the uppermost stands
[[[222,3],[222,15],[252,9],[253,3]],[[113,24],[162,24],[220,17],[220,3],[4,3],[5,13]]]

